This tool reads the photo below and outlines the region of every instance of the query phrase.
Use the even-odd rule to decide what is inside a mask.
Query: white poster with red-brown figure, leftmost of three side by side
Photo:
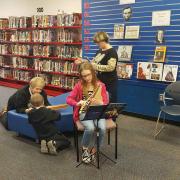
[[[138,62],[137,65],[137,79],[150,79],[152,63],[149,62]]]

